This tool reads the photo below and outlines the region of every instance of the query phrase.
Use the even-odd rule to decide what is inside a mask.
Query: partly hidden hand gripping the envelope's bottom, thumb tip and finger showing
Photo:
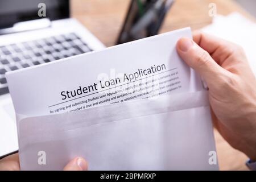
[[[83,158],[74,158],[65,167],[64,171],[86,171],[87,163]],[[19,155],[18,153],[9,155],[0,160],[0,171],[18,171]]]

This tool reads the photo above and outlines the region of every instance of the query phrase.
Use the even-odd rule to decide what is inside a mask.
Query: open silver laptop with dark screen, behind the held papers
[[[5,73],[104,48],[69,15],[68,0],[0,1],[0,156],[18,150]]]

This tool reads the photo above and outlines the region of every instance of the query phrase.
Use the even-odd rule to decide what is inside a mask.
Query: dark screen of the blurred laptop
[[[44,4],[42,4],[44,3]],[[45,7],[45,8],[44,8]],[[46,15],[46,16],[44,16]],[[51,20],[69,17],[68,0],[1,0],[0,28],[39,18]]]

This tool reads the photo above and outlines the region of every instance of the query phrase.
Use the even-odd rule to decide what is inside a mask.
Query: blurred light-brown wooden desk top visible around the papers
[[[117,40],[129,3],[129,0],[72,0],[72,16],[80,20],[105,46],[109,47]],[[232,0],[176,0],[160,32],[183,27],[196,30],[207,26],[212,22],[212,18],[208,15],[209,3],[216,3],[218,14],[227,15],[238,11],[247,18],[254,19]],[[246,156],[230,147],[215,129],[214,137],[220,169],[246,170]]]

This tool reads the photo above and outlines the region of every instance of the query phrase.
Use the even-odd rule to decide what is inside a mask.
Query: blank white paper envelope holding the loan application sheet
[[[20,121],[20,167],[61,170],[82,156],[90,170],[217,170],[210,121],[207,92],[30,117]]]

